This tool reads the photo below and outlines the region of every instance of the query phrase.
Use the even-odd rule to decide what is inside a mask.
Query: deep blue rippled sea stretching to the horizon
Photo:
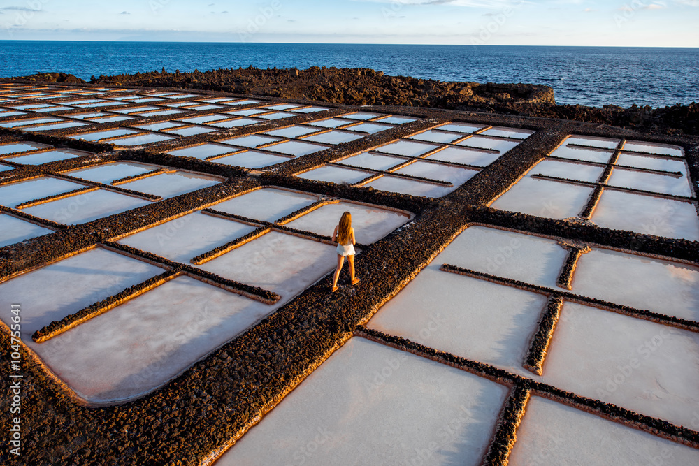
[[[664,107],[699,101],[699,48],[0,41],[0,76],[216,68],[373,68],[442,81],[526,82],[557,103]]]

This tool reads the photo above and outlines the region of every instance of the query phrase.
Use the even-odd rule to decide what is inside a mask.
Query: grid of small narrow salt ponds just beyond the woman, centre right
[[[363,125],[379,124],[375,122],[382,122],[385,119],[375,114],[363,115],[369,122]],[[329,127],[347,129],[356,127],[345,126],[347,120],[343,118],[325,121],[328,122]],[[373,131],[373,129],[366,129],[366,131]],[[409,138],[377,147],[372,152],[349,156],[336,161],[333,165],[308,170],[298,176],[308,180],[359,184],[413,196],[442,197],[470,180],[482,167],[519,145],[521,140],[532,133],[533,131],[525,129],[448,123],[438,126],[437,129],[422,131]],[[461,145],[468,147],[461,147]],[[402,166],[408,161],[410,161],[408,166]],[[390,171],[394,175],[377,175],[362,168]],[[400,175],[424,177],[452,185],[415,180]]]

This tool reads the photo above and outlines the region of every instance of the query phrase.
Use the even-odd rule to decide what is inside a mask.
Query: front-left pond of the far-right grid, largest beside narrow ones
[[[577,217],[584,210],[592,191],[592,187],[525,176],[497,198],[491,207],[550,219],[567,219]]]

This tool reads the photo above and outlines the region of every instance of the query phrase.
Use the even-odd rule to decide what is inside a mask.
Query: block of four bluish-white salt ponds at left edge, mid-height
[[[0,185],[0,205],[15,207],[23,212],[56,221],[60,224],[82,224],[113,214],[118,214],[136,207],[148,205],[153,201],[144,196],[151,194],[161,198],[171,198],[190,191],[213,186],[222,181],[219,177],[192,173],[185,170],[172,170],[154,173],[134,180],[125,180],[115,184],[120,188],[136,191],[137,194],[123,194],[99,188],[92,191],[72,193],[78,189],[94,187],[91,182],[113,184],[125,177],[138,177],[162,168],[160,166],[136,162],[112,162],[90,168],[71,170],[66,175],[80,178],[82,182],[73,182],[44,175],[31,180]],[[138,195],[140,193],[140,196]],[[62,196],[64,195],[65,196]],[[29,206],[22,204],[43,198],[56,196],[43,203]],[[27,239],[27,238],[22,238]]]

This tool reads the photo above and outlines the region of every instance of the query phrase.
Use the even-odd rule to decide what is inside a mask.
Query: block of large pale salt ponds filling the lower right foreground
[[[547,298],[439,270],[451,263],[555,288],[566,256],[554,240],[472,226],[384,304],[368,326],[693,428],[699,409],[696,333],[566,302],[544,375],[533,376],[521,365]],[[696,321],[698,289],[696,268],[593,249],[581,259],[572,292],[627,305],[649,303],[656,312]],[[354,337],[218,463],[263,458],[276,464],[307,458],[312,451],[319,463],[342,458],[359,464],[475,465],[505,395],[505,387],[487,379]],[[563,464],[574,451],[576,458],[597,463],[600,449],[592,452],[589,446],[600,442],[607,462],[656,456],[686,464],[699,460],[690,447],[533,397],[510,461]],[[358,451],[357,444],[366,448]]]

